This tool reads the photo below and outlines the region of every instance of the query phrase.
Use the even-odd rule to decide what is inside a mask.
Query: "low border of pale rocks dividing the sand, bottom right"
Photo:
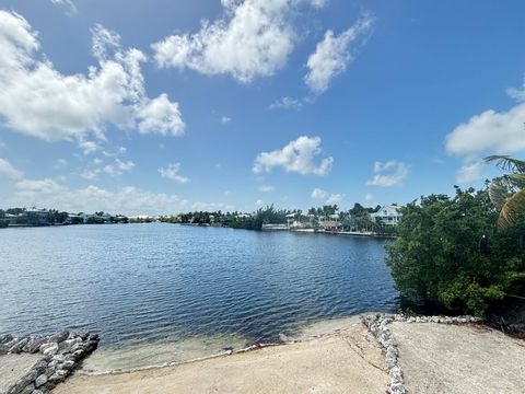
[[[385,367],[390,374],[388,392],[392,394],[405,394],[407,390],[402,379],[402,371],[398,363],[399,350],[397,347],[397,340],[387,327],[387,324],[394,321],[405,323],[462,324],[477,323],[482,320],[474,316],[405,316],[402,314],[383,313],[363,316],[362,322],[385,349]]]

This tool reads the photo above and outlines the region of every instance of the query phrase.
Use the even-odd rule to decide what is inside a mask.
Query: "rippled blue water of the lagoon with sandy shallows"
[[[174,224],[3,229],[0,333],[100,333],[93,370],[275,341],[396,310],[383,244]]]

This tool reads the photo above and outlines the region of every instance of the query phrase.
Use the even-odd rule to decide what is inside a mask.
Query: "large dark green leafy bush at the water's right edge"
[[[497,231],[488,190],[456,188],[454,198],[422,197],[402,209],[387,246],[396,288],[413,301],[483,315],[505,293],[524,294],[525,222]]]

